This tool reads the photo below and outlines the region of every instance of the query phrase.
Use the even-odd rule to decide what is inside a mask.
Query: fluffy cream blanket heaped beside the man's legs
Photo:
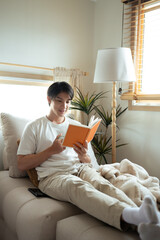
[[[124,159],[120,163],[101,165],[99,172],[131,198],[137,206],[141,205],[147,194],[160,203],[159,179],[149,176],[143,167],[128,159]]]

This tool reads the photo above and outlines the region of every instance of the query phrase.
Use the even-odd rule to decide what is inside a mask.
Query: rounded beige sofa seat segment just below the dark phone
[[[82,211],[70,203],[51,198],[38,198],[27,202],[17,216],[18,239],[56,239],[57,221],[80,212]]]

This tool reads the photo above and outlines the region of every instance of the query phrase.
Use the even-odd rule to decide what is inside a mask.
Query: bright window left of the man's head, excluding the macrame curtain
[[[0,63],[0,112],[29,119],[47,114],[52,83],[53,70]]]

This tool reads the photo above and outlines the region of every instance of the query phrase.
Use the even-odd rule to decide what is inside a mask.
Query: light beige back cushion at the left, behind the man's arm
[[[20,171],[17,167],[17,139],[22,135],[28,119],[19,118],[8,113],[0,114],[2,135],[4,139],[4,166],[9,166],[11,177],[24,177],[26,171]]]

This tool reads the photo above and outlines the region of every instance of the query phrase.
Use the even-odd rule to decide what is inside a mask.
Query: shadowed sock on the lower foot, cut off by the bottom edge
[[[138,233],[141,240],[159,240],[160,239],[160,224],[141,223],[138,226]]]

